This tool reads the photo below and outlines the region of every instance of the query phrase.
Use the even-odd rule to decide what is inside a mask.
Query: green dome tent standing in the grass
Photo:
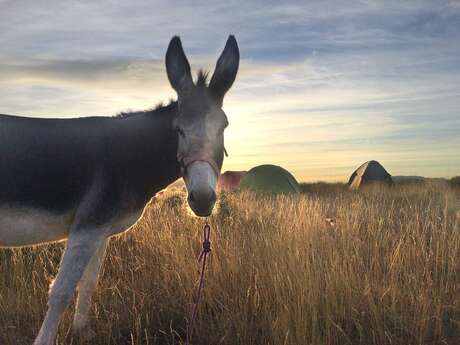
[[[289,171],[276,165],[259,165],[241,179],[240,190],[262,193],[299,193],[300,186]]]

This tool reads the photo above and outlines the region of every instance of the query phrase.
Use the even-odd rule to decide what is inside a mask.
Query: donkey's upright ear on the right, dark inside
[[[235,36],[230,35],[224,51],[217,60],[216,69],[209,83],[209,89],[222,103],[225,93],[230,89],[236,78],[240,63],[240,51]]]

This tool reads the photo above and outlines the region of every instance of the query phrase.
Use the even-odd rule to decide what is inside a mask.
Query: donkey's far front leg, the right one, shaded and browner
[[[108,238],[105,238],[91,258],[86,267],[83,277],[78,284],[78,297],[75,306],[75,316],[73,319],[73,333],[86,340],[94,336],[88,322],[89,311],[91,307],[91,296],[97,286],[99,271],[104,261],[105,248]]]

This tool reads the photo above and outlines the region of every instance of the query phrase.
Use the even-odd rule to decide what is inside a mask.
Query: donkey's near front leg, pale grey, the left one
[[[67,241],[59,272],[50,289],[48,311],[34,345],[54,344],[62,313],[90,259],[105,240],[105,236],[97,231],[75,230],[71,231]]]

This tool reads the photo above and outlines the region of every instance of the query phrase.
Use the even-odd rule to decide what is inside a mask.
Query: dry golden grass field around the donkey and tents
[[[310,190],[221,197],[193,344],[460,344],[458,192]],[[91,344],[183,344],[203,225],[183,203],[158,196],[111,240]],[[63,246],[0,250],[1,345],[33,342]],[[72,315],[59,345],[80,344]]]

